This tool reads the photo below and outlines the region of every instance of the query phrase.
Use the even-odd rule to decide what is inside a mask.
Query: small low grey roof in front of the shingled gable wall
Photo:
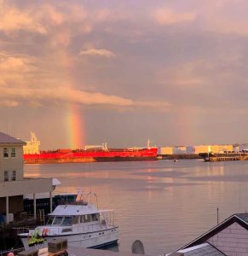
[[[220,252],[216,249],[216,247],[213,247],[209,243],[203,243],[198,246],[189,247],[187,249],[183,249],[180,251],[177,251],[177,253],[182,253],[184,256],[222,256],[225,255],[224,253]]]

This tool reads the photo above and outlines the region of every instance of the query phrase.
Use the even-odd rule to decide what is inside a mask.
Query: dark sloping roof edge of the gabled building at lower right
[[[245,230],[248,230],[248,212],[245,213],[235,213],[234,215],[230,216],[229,218],[226,218],[224,221],[222,221],[221,224],[216,225],[213,229],[207,231],[202,236],[199,236],[195,240],[189,242],[186,246],[182,247],[180,250],[186,249],[188,247],[194,247],[199,244],[205,243],[210,239],[212,236],[215,236],[222,230],[225,230],[229,225],[237,223]]]

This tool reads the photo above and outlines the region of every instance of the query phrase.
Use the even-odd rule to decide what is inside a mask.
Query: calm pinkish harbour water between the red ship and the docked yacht
[[[57,177],[58,191],[94,191],[115,210],[119,251],[140,239],[146,253],[170,253],[248,210],[248,161],[202,160],[26,165],[26,177]]]

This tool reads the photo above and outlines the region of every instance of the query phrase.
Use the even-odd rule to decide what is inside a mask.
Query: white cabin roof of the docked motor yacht
[[[86,215],[101,212],[111,212],[112,210],[98,210],[94,205],[60,205],[55,208],[55,211],[49,213],[51,216],[75,216]]]

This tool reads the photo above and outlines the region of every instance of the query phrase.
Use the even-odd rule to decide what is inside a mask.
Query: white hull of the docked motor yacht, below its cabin
[[[48,247],[49,240],[63,238],[67,240],[69,247],[102,248],[118,243],[118,227],[108,230],[98,230],[88,233],[79,233],[63,236],[46,236],[43,244],[39,247]],[[20,239],[25,249],[30,248],[27,244],[28,234],[21,234]]]

